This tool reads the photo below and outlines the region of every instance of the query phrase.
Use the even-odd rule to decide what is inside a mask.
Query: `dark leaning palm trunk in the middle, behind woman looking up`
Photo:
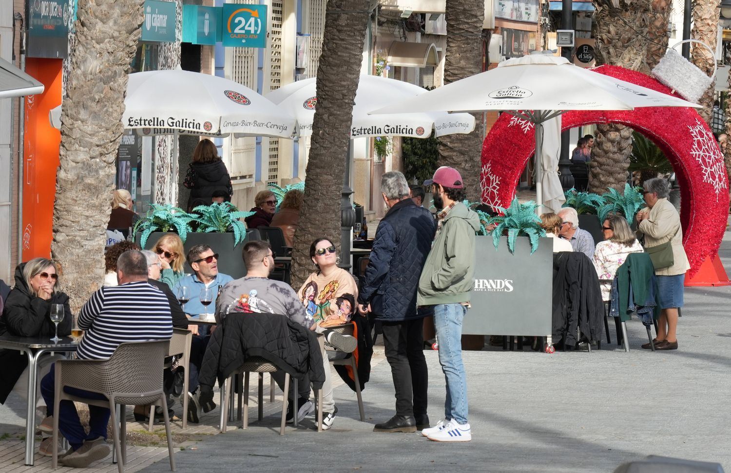
[[[315,238],[340,246],[341,191],[348,154],[353,101],[363,42],[370,18],[368,0],[329,0],[317,67],[317,109],[307,162],[307,186],[295,232],[292,287],[298,288],[314,266],[309,248]]]

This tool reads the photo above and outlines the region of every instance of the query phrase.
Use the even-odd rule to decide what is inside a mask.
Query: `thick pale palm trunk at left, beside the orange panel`
[[[51,243],[73,311],[104,279],[127,71],[140,38],[143,0],[79,0],[77,18]]]

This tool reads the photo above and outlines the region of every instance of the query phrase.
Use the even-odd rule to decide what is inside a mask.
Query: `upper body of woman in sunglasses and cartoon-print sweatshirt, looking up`
[[[335,245],[327,238],[317,238],[310,245],[310,257],[317,270],[308,276],[298,292],[308,314],[312,314],[320,327],[349,322],[358,288],[352,274],[338,268]]]

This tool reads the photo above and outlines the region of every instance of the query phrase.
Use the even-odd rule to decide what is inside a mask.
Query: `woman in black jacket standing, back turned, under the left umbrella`
[[[183,186],[190,189],[188,208],[196,199],[211,202],[213,192],[224,191],[230,197],[233,195],[231,177],[226,165],[219,158],[216,145],[211,140],[203,139],[193,151],[193,162],[183,181]]]

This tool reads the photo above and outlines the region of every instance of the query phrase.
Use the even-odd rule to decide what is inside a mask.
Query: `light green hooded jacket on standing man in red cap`
[[[461,202],[444,216],[419,279],[420,306],[469,302],[477,230],[480,217]]]

